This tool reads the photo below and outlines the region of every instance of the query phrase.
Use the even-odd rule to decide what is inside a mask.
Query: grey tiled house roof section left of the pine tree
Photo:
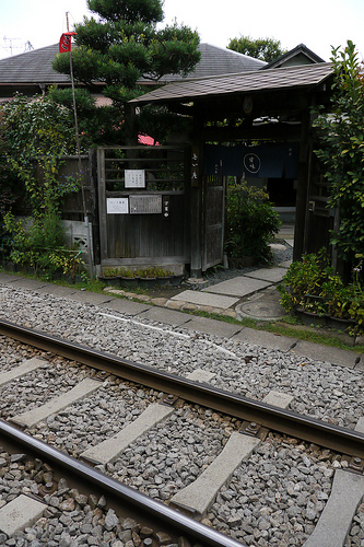
[[[58,44],[0,59],[0,84],[69,84],[71,80],[67,74],[59,74],[51,68],[56,54]]]

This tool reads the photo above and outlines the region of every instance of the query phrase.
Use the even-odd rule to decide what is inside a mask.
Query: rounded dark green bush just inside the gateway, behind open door
[[[258,263],[270,263],[272,253],[268,243],[279,232],[281,223],[263,190],[247,183],[230,184],[225,246],[237,267],[248,256]]]

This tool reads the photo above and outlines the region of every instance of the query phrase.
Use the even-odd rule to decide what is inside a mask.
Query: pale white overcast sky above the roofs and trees
[[[0,0],[0,58],[56,44],[69,25],[90,16],[86,0]],[[190,26],[201,42],[227,47],[240,36],[274,38],[285,49],[305,44],[329,61],[331,46],[351,39],[364,58],[363,0],[164,0],[164,23]]]

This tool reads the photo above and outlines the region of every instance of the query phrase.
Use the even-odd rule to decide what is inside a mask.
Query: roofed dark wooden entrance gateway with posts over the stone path
[[[328,234],[333,218],[330,211],[320,207],[326,198],[317,190],[320,179],[315,172],[310,142],[310,107],[329,103],[332,78],[331,63],[312,59],[309,63],[286,68],[184,80],[130,102],[136,108],[164,105],[193,120],[190,181],[192,276],[199,277],[201,271],[222,260],[224,175],[242,177],[243,168],[245,173],[257,175],[258,179],[277,179],[278,186],[284,171],[290,171],[291,189],[295,194],[292,196],[294,259],[305,252],[315,252],[317,245],[329,245]],[[216,143],[213,152],[211,142]],[[268,144],[265,156],[253,147],[244,150],[246,143],[256,142]],[[230,147],[224,147],[224,143],[230,143]],[[278,144],[282,150],[275,150]],[[297,151],[294,164],[290,155],[293,148]],[[209,163],[206,161],[208,154]],[[263,160],[267,160],[267,168]],[[275,173],[278,167],[280,171]],[[249,182],[251,178],[249,176]],[[207,219],[203,230],[200,219]]]

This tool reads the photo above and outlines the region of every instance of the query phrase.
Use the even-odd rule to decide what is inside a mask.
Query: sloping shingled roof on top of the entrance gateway
[[[244,92],[308,89],[325,82],[332,73],[332,63],[320,62],[198,80],[184,80],[158,88],[145,95],[133,98],[130,103],[141,105],[148,103],[189,102],[207,96],[226,96]]]

